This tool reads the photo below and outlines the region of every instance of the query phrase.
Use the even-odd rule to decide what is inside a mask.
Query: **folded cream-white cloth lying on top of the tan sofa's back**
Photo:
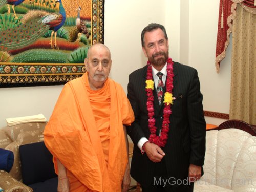
[[[22,123],[31,123],[31,122],[46,122],[46,118],[43,114],[38,115],[31,115],[25,117],[14,117],[14,118],[7,118],[6,122],[8,126],[13,126]]]

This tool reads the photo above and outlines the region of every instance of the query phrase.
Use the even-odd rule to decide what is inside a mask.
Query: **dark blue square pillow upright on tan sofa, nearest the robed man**
[[[19,147],[22,178],[25,185],[44,182],[57,177],[52,154],[44,142],[31,143]]]

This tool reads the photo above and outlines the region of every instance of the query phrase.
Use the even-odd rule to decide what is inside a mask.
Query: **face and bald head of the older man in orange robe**
[[[93,86],[104,84],[110,74],[112,63],[109,50],[103,46],[94,46],[84,63],[88,71],[89,82]]]

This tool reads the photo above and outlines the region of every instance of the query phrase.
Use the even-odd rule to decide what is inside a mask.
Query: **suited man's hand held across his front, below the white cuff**
[[[154,143],[145,142],[143,148],[145,149],[147,157],[154,163],[160,162],[163,156],[165,156],[163,150]]]

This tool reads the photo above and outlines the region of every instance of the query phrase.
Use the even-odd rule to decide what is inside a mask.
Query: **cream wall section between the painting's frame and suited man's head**
[[[112,52],[111,77],[125,91],[128,75],[147,61],[141,49],[140,33],[149,23],[164,25],[164,10],[165,3],[152,0],[105,1],[105,44]]]

